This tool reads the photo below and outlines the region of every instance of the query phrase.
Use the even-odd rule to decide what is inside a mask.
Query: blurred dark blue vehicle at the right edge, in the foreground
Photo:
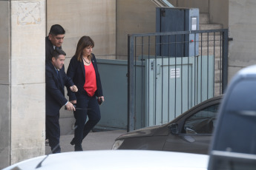
[[[209,170],[256,169],[256,65],[229,83],[209,155]]]

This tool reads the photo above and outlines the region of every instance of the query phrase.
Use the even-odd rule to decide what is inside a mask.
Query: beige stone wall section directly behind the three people
[[[76,51],[76,44],[83,35],[93,38],[96,58],[116,58],[116,0],[47,0],[45,35],[53,24],[61,24],[66,30],[62,45],[67,53],[66,70]],[[73,134],[74,122],[73,112],[62,108],[59,120],[61,135]]]

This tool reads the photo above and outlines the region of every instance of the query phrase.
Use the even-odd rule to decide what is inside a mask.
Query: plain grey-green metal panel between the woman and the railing
[[[127,61],[97,59],[105,102],[99,129],[127,129]]]

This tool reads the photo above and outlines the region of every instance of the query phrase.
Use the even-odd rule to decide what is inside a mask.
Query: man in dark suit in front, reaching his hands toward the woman
[[[59,146],[59,109],[65,105],[70,111],[75,107],[65,98],[64,86],[70,87],[72,92],[77,92],[73,81],[65,74],[63,67],[65,52],[61,49],[53,50],[51,61],[45,64],[45,105],[46,105],[46,136],[49,139],[51,151],[60,153]]]

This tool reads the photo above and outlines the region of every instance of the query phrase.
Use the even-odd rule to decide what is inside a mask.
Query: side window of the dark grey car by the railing
[[[183,132],[186,134],[211,134],[213,132],[219,104],[201,109],[186,119]]]

